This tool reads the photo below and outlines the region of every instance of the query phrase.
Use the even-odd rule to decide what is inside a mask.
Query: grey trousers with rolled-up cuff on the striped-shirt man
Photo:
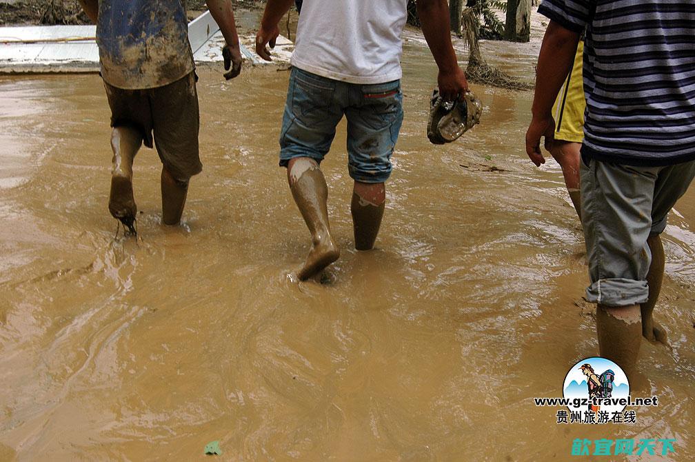
[[[630,306],[647,301],[650,234],[695,176],[695,160],[665,167],[634,167],[587,159],[580,163],[582,225],[587,245],[589,302]]]

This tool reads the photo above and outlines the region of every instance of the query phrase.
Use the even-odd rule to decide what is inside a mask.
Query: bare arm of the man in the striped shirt
[[[526,131],[526,154],[537,167],[546,162],[541,154],[541,136],[546,138],[548,151],[553,144],[553,103],[572,68],[578,43],[579,33],[550,21],[538,56],[532,117]]]

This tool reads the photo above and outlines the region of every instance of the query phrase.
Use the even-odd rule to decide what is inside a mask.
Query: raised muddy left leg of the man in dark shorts
[[[141,144],[142,135],[131,127],[117,126],[111,131],[113,170],[108,211],[131,232],[135,231],[133,222],[138,211],[133,198],[133,159]]]

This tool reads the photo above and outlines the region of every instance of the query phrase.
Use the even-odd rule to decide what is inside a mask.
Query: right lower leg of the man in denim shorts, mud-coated
[[[374,247],[384,216],[384,204],[386,204],[384,183],[354,182],[350,211],[355,249],[370,250]]]

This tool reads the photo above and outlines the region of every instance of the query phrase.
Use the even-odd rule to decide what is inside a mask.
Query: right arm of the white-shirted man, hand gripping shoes
[[[459,67],[451,44],[449,6],[446,0],[418,0],[418,17],[423,35],[439,67],[437,84],[445,101],[454,101],[468,91],[468,81]]]

